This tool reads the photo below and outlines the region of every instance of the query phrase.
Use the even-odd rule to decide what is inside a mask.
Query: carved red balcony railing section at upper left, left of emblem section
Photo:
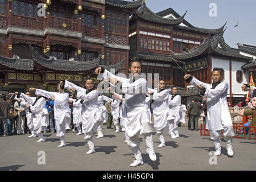
[[[44,20],[42,18],[34,18],[30,16],[21,16],[13,14],[13,25],[18,27],[34,28],[43,30]]]

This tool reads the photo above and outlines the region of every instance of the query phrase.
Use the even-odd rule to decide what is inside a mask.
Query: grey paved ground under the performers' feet
[[[210,151],[214,150],[209,137],[200,136],[199,131],[179,127],[180,138],[171,139],[165,131],[166,147],[157,148],[159,139],[154,133],[154,148],[157,161],[151,162],[146,153],[146,144],[141,137],[141,151],[144,164],[130,167],[134,157],[124,141],[124,133],[114,133],[104,128],[104,138],[94,137],[94,154],[89,150],[83,135],[67,133],[66,147],[58,148],[59,138],[55,134],[44,134],[46,142],[37,143],[37,138],[28,135],[0,137],[0,170],[254,170],[255,140],[234,139],[234,157],[227,156],[226,142],[222,139],[222,155],[217,165],[209,164]],[[38,164],[38,151],[45,151],[46,164]]]

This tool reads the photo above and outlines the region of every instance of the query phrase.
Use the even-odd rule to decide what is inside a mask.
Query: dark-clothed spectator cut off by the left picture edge
[[[8,136],[7,122],[6,119],[8,117],[8,103],[5,101],[5,96],[0,94],[0,125],[3,129],[3,136]]]

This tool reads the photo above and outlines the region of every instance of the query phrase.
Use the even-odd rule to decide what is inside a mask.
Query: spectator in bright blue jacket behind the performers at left
[[[45,130],[43,133],[47,133],[47,130],[49,132],[54,133],[55,131],[55,123],[54,123],[54,113],[53,113],[53,106],[54,106],[54,100],[51,100],[51,98],[47,98],[46,100],[46,109],[48,111],[49,116],[49,123],[50,125],[48,127],[45,127]]]

